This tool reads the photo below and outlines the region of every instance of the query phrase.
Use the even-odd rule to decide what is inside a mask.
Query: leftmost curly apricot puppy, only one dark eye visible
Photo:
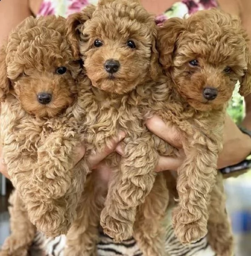
[[[81,68],[66,20],[27,18],[1,49],[0,66],[1,140],[11,181],[38,230],[66,233],[88,172],[84,160],[74,167],[74,148],[83,140]]]

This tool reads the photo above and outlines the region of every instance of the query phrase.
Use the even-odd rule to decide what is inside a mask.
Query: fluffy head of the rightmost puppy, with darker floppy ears
[[[171,18],[158,31],[160,63],[177,92],[195,109],[220,108],[240,81],[251,92],[251,56],[240,20],[218,9]]]

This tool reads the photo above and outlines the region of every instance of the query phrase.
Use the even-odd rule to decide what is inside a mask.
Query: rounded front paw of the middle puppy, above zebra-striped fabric
[[[113,238],[116,243],[132,237],[133,225],[131,223],[118,221],[104,210],[101,214],[100,224],[104,233]]]

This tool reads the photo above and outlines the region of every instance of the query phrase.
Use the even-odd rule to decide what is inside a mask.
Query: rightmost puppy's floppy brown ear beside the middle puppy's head
[[[160,64],[167,70],[172,64],[173,52],[181,32],[185,30],[185,21],[181,18],[170,18],[158,27],[157,49],[160,53]]]

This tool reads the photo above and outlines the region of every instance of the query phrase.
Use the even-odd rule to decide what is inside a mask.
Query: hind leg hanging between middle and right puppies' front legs
[[[134,238],[144,256],[168,256],[165,252],[168,201],[165,177],[158,173],[151,192],[138,207],[134,224]]]

